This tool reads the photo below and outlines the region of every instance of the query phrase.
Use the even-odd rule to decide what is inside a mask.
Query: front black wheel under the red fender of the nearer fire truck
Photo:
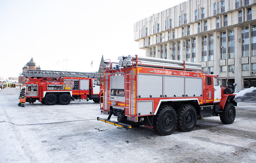
[[[231,124],[235,120],[236,110],[233,103],[227,102],[224,106],[223,113],[220,116],[220,120],[224,124]]]

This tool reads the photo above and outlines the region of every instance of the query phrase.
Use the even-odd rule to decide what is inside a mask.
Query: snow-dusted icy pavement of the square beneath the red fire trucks
[[[6,88],[7,89],[7,88]],[[10,91],[16,91],[11,88]],[[256,107],[240,102],[233,124],[197,120],[191,132],[168,136],[146,127],[129,130],[96,117],[99,103],[72,101],[18,107],[18,91],[0,91],[0,162],[255,162]],[[116,120],[116,118],[113,118]]]

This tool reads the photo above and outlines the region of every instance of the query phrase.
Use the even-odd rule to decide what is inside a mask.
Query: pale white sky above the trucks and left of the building
[[[183,1],[0,0],[0,77],[18,77],[31,57],[42,70],[92,72],[102,55],[145,56],[133,24]]]

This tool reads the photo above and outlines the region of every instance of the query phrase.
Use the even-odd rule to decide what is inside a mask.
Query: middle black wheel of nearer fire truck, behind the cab
[[[193,106],[183,105],[177,111],[177,126],[181,131],[192,131],[196,126],[197,113]]]

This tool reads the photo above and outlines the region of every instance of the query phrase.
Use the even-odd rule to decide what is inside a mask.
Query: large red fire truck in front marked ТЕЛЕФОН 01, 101
[[[220,116],[224,124],[234,122],[238,103],[231,86],[222,87],[218,75],[204,73],[200,63],[137,55],[119,60],[103,66],[100,109],[109,116],[97,120],[126,129],[144,125],[159,135],[176,127],[191,131],[198,118]],[[110,120],[112,115],[117,122]]]

